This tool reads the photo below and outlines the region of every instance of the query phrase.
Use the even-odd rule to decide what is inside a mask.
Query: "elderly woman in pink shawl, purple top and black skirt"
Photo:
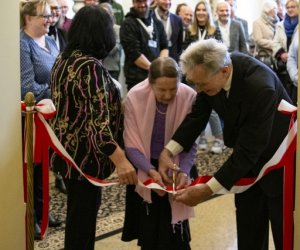
[[[152,178],[164,186],[158,172],[158,158],[196,97],[196,92],[180,83],[180,70],[169,57],[155,59],[149,77],[134,86],[125,99],[124,142],[128,158],[138,170],[139,180]],[[174,158],[180,167],[176,187],[188,183],[196,147]],[[138,193],[136,193],[135,191]],[[161,190],[128,186],[123,241],[138,239],[142,250],[189,250],[190,207],[172,202]]]

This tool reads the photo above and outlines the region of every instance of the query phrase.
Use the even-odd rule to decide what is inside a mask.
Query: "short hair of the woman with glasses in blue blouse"
[[[47,0],[30,0],[20,2],[20,27],[26,26],[26,16],[43,15],[45,9],[49,6]],[[50,6],[49,6],[50,8]]]

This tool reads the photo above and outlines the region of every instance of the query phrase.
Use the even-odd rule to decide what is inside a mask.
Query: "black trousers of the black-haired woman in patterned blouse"
[[[65,250],[93,250],[101,188],[87,180],[65,179],[68,200]]]

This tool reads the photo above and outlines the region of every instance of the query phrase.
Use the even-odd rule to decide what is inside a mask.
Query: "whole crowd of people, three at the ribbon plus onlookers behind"
[[[285,137],[284,99],[297,105],[297,0],[265,0],[253,22],[236,0],[84,0],[73,19],[67,0],[20,4],[21,98],[50,98],[53,131],[80,169],[126,185],[123,241],[142,250],[190,248],[192,206],[243,177],[255,177]],[[124,54],[124,67],[121,62]],[[127,95],[118,83],[124,72]],[[209,124],[213,141],[205,133]],[[206,184],[176,194],[197,177],[196,151],[233,154]],[[51,152],[55,186],[67,195],[66,250],[93,250],[101,187]],[[34,164],[35,239],[41,239],[42,173]],[[283,170],[235,195],[238,248],[267,249],[269,222],[283,249]],[[251,215],[251,216],[249,216]],[[62,222],[49,215],[49,226]],[[247,225],[247,227],[245,227]]]

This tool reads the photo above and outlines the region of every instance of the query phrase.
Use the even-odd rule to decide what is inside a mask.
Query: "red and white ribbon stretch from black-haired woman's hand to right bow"
[[[297,108],[288,102],[282,100],[279,104],[278,111],[291,115],[290,129],[288,134],[280,144],[273,157],[263,166],[256,178],[241,178],[235,185],[227,190],[223,188],[218,193],[241,193],[253,186],[263,176],[274,169],[284,167],[284,193],[283,193],[283,249],[293,249],[293,210],[294,210],[294,156],[296,151],[297,139],[297,121],[294,121]],[[190,186],[200,185],[210,180],[212,176],[200,176],[194,180]],[[149,179],[144,182],[148,188],[165,190],[153,180]],[[167,187],[167,192],[171,193],[172,188]]]

